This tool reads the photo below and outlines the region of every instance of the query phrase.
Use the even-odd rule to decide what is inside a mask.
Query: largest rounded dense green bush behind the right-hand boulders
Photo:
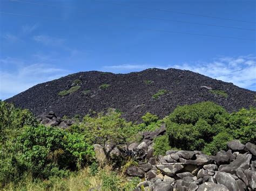
[[[228,113],[212,102],[177,107],[166,118],[170,146],[182,150],[202,150],[219,132],[225,130]]]

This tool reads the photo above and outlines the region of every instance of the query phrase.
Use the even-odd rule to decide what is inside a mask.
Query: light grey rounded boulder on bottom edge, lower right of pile
[[[216,181],[217,183],[226,186],[227,189],[229,190],[232,190],[232,191],[239,190],[235,179],[229,173],[218,172],[216,174]]]

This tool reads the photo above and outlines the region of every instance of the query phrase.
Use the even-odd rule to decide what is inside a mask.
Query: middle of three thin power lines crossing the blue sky
[[[43,4],[43,3],[34,3],[34,2],[27,2],[27,1],[19,1],[19,0],[10,0],[11,2],[17,2],[17,3],[28,3],[28,4],[36,4],[36,5],[45,5],[45,6],[52,6],[52,7],[60,7],[58,5],[51,5],[51,4]],[[99,1],[96,1],[99,2]],[[104,2],[106,3],[106,2]],[[61,6],[62,7],[62,6]],[[68,6],[65,6],[68,7]],[[68,7],[69,8],[69,7]],[[77,9],[77,10],[83,10],[83,9]],[[127,16],[119,16],[119,17],[127,17]],[[187,24],[194,24],[194,25],[205,25],[205,26],[217,26],[217,27],[224,27],[227,29],[238,29],[238,30],[246,30],[246,31],[256,31],[254,29],[244,29],[241,27],[233,27],[233,26],[224,26],[224,25],[214,25],[214,24],[204,24],[204,23],[193,23],[193,22],[186,22],[184,20],[172,20],[172,19],[163,19],[163,18],[152,18],[152,17],[144,17],[144,16],[136,16],[133,15],[132,17],[138,17],[138,18],[146,18],[146,19],[153,19],[153,20],[164,20],[167,22],[176,22],[176,23],[187,23]]]

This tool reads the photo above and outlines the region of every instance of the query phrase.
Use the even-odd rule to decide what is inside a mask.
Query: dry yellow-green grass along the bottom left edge
[[[71,173],[66,178],[58,178],[53,176],[50,179],[33,180],[30,174],[24,175],[23,179],[17,183],[9,183],[5,185],[3,190],[55,190],[55,191],[75,191],[89,190],[95,188],[97,190],[133,190],[140,182],[140,179],[133,178],[127,180],[125,176],[112,172],[110,166],[100,169],[95,175],[90,172],[90,167],[80,169],[78,172]]]

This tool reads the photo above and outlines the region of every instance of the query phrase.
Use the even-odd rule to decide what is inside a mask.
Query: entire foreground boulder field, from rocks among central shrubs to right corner
[[[97,160],[100,165],[105,165],[129,155],[138,161],[138,165],[126,169],[128,178],[138,176],[143,180],[136,191],[256,189],[256,145],[232,140],[227,143],[228,151],[219,151],[216,155],[170,150],[165,155],[154,156],[153,138],[164,132],[165,126],[162,125],[154,132],[144,132],[141,143],[93,145]]]

